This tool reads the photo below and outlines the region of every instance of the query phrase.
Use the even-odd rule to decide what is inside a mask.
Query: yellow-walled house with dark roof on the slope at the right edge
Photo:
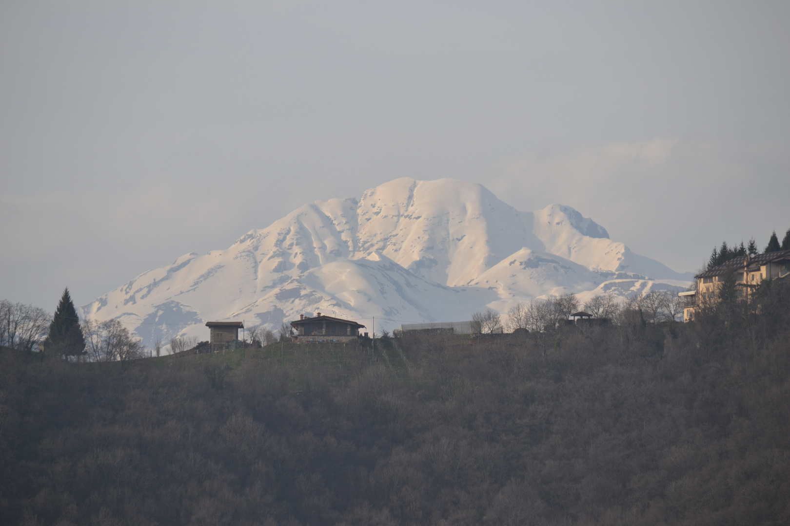
[[[698,308],[716,304],[719,301],[719,289],[725,278],[735,278],[741,297],[748,298],[763,280],[781,279],[790,275],[790,250],[766,252],[754,256],[737,257],[722,263],[718,267],[705,270],[694,276],[697,289],[679,293],[686,301],[683,307],[683,321],[694,319]]]

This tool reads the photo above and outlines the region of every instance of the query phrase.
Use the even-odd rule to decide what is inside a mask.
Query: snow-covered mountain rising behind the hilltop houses
[[[299,314],[350,318],[377,332],[469,319],[565,292],[626,297],[679,289],[691,274],[638,256],[571,207],[517,211],[482,185],[402,178],[362,197],[316,201],[226,250],[179,257],[85,305],[145,345],[206,321],[271,328]]]

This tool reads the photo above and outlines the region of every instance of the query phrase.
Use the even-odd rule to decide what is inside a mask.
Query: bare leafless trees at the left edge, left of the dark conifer
[[[41,350],[51,316],[43,308],[0,301],[0,345],[23,351]]]

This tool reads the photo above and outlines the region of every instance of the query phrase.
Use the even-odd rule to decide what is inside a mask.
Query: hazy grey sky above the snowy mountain
[[[0,3],[0,299],[85,304],[396,177],[694,270],[790,228],[788,2]]]

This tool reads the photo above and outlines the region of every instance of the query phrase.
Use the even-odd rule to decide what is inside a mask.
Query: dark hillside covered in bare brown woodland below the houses
[[[0,524],[790,524],[790,293],[758,298],[342,360],[0,351]]]

